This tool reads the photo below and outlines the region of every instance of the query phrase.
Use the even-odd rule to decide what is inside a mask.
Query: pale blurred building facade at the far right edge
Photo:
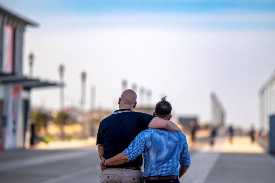
[[[260,88],[258,102],[260,129],[268,131],[269,116],[275,114],[275,71]]]

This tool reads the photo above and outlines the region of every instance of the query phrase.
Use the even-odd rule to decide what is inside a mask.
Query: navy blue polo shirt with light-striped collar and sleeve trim
[[[121,109],[103,119],[97,132],[97,146],[104,146],[103,157],[109,159],[125,150],[137,134],[150,126],[154,118],[149,114]],[[142,155],[128,163],[112,167],[140,166],[142,166]]]

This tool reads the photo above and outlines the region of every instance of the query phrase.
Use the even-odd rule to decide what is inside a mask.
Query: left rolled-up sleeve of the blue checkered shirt
[[[146,146],[146,141],[144,137],[144,132],[140,132],[137,134],[135,139],[131,142],[127,149],[125,149],[122,153],[128,157],[127,162],[134,160],[137,156],[141,155]]]

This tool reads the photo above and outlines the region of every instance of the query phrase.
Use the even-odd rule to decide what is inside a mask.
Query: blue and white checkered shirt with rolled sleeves
[[[178,162],[182,166],[189,166],[191,163],[186,137],[181,132],[149,128],[140,132],[123,154],[127,155],[129,162],[142,152],[143,177],[179,176]]]

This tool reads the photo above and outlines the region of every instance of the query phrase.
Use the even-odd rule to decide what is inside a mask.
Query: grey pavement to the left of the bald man
[[[21,159],[20,154],[25,152],[28,152],[28,157],[25,155],[25,158]],[[41,155],[37,155],[37,152]],[[7,154],[9,152],[1,152],[0,156]],[[101,170],[94,147],[70,150],[20,150],[12,151],[11,154],[14,160],[0,162],[1,183],[99,182]]]

